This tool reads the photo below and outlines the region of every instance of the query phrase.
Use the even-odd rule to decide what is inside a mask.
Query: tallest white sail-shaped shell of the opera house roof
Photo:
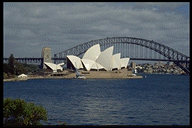
[[[90,47],[85,52],[82,59],[89,59],[89,60],[96,61],[96,59],[99,57],[100,54],[101,54],[100,45],[96,44]]]

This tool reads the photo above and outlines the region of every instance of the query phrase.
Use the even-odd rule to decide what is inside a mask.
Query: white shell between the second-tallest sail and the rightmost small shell
[[[121,69],[121,61],[120,61],[121,53],[114,54],[111,58],[111,70],[112,69]]]

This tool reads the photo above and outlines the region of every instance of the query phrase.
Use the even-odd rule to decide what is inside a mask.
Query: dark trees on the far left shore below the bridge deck
[[[13,54],[10,55],[8,63],[3,62],[3,77],[11,78],[15,77],[15,75],[20,75],[22,73],[34,73],[38,72],[41,69],[38,65],[34,64],[22,64],[15,60]]]

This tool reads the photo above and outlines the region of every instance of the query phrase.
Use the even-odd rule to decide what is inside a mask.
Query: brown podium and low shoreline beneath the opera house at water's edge
[[[133,75],[127,69],[114,70],[114,71],[79,71],[86,79],[137,79],[143,78],[142,76]],[[46,75],[28,75],[27,78],[9,78],[3,81],[23,81],[28,79],[71,79],[75,78],[76,72],[72,70],[64,70],[63,72],[47,73]]]

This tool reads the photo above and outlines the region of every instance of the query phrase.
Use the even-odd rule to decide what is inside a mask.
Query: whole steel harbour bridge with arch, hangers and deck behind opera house
[[[135,38],[135,37],[107,37],[103,39],[91,40],[77,45],[65,51],[54,54],[52,60],[54,63],[66,61],[67,55],[81,57],[87,49],[95,44],[100,44],[101,51],[114,46],[114,54],[121,53],[121,57],[129,57],[130,60],[145,61],[171,61],[180,67],[186,74],[190,74],[190,57],[174,50],[164,44],[153,40]],[[15,58],[23,63],[42,63],[43,58]],[[3,58],[7,61],[8,58]]]

